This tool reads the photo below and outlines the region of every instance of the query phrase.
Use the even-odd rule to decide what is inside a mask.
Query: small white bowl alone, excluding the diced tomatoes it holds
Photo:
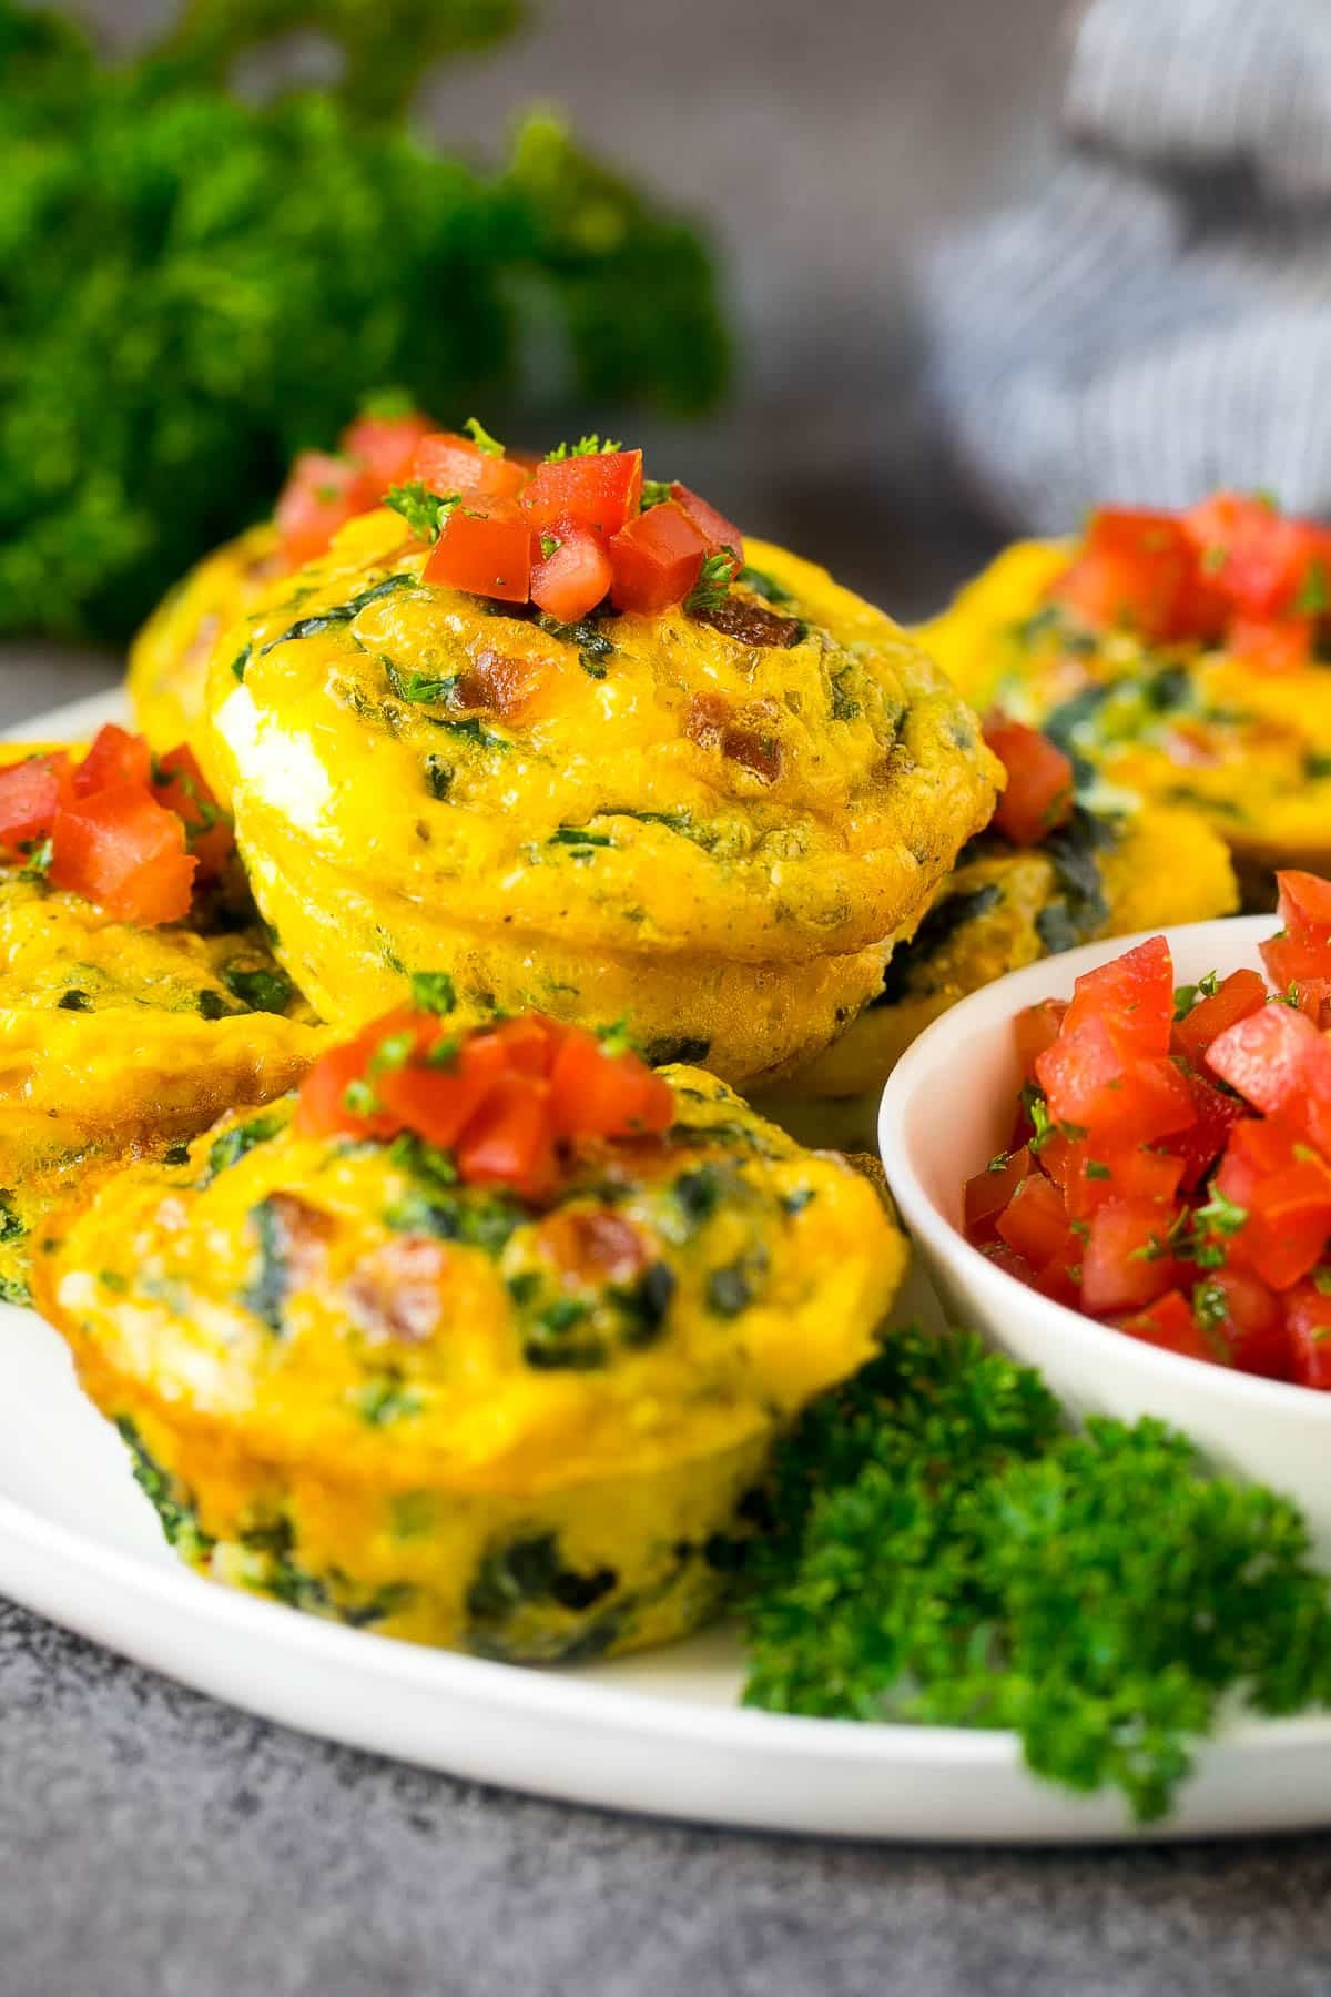
[[[1167,931],[1179,985],[1261,967],[1269,915]],[[1008,1142],[1022,1080],[1014,1016],[1040,998],[1070,998],[1084,971],[1141,937],[1092,943],[1014,971],[964,998],[920,1034],[882,1096],[878,1144],[888,1184],[950,1320],[1044,1374],[1074,1416],[1155,1414],[1221,1470],[1293,1498],[1317,1554],[1331,1562],[1331,1394],[1205,1366],[1115,1332],[1028,1290],[960,1232],[962,1186]]]

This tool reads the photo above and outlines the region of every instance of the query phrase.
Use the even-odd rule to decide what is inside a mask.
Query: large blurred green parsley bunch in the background
[[[696,232],[529,118],[481,172],[397,122],[421,68],[515,0],[194,0],[104,70],[0,0],[0,631],[124,637],[206,547],[263,517],[367,389],[441,421],[563,357],[563,389],[672,411],[722,385]],[[289,28],[341,42],[337,94],[223,88]]]

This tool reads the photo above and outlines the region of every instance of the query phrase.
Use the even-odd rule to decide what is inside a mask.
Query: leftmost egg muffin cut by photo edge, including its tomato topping
[[[28,1300],[46,1216],[90,1172],[281,1094],[327,1042],[253,915],[235,929],[225,897],[218,901],[229,827],[192,771],[172,757],[154,765],[146,743],[122,729],[104,729],[90,751],[4,751],[8,1302]]]

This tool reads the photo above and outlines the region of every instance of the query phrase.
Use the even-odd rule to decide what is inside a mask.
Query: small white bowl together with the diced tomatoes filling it
[[[1331,1558],[1331,883],[1030,965],[892,1072],[882,1158],[944,1304],[1074,1412],[1155,1414]]]

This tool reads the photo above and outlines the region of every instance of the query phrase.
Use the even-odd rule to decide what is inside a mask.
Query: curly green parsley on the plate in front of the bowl
[[[1221,1701],[1325,1703],[1331,1608],[1297,1510],[1159,1422],[1066,1430],[976,1338],[892,1334],[776,1458],[744,1697],[1012,1727],[1030,1767],[1169,1809]]]

